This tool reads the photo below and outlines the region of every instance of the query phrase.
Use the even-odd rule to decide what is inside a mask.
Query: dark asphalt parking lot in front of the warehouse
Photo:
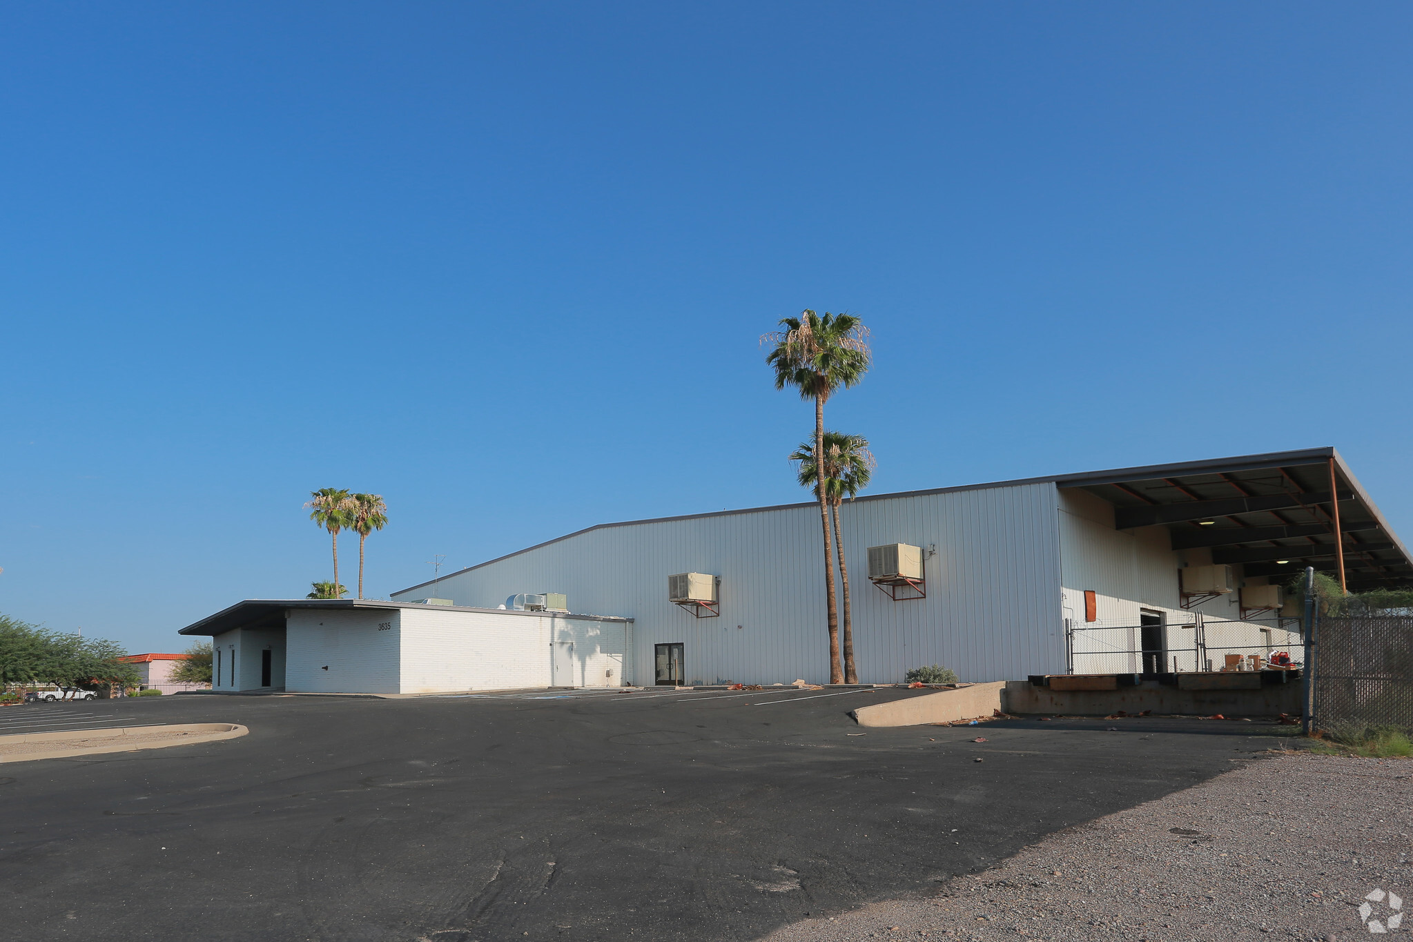
[[[822,693],[7,708],[0,733],[250,734],[0,765],[3,935],[753,939],[926,893],[1279,741],[1169,719],[861,729],[849,709],[906,693]]]

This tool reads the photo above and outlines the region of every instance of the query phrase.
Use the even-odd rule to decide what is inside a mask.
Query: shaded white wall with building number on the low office
[[[396,609],[290,609],[285,620],[285,689],[302,693],[400,693],[400,614]],[[325,671],[325,665],[329,669]],[[260,662],[256,661],[259,669]]]

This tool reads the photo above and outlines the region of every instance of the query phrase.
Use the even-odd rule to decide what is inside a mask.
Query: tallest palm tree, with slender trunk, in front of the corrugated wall
[[[776,371],[776,388],[791,386],[800,398],[814,400],[814,451],[824,453],[824,403],[841,386],[856,386],[869,370],[869,330],[851,314],[822,316],[803,311],[798,318],[781,318],[783,330],[760,338],[771,343],[766,354]],[[829,684],[842,684],[839,668],[839,612],[834,602],[834,547],[829,534],[829,506],[820,491],[820,527],[824,531],[824,588],[829,628]]]

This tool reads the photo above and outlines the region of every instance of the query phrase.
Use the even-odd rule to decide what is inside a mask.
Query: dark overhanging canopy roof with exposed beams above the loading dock
[[[1314,566],[1349,592],[1413,585],[1413,559],[1332,448],[1054,479],[1115,506],[1118,530],[1167,525],[1173,549],[1283,580]]]

